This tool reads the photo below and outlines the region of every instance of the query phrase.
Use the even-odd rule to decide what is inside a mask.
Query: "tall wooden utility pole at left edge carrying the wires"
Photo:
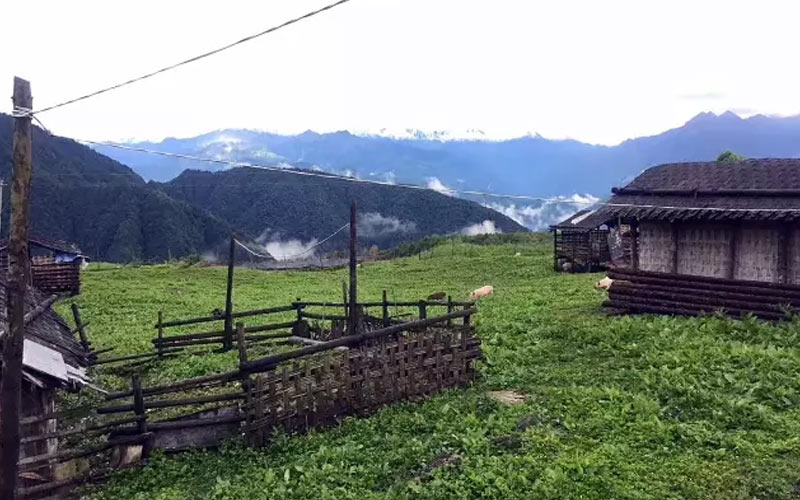
[[[19,418],[22,391],[22,349],[25,340],[25,291],[28,285],[28,225],[31,195],[31,84],[14,77],[13,180],[8,239],[8,288],[0,375],[0,498],[16,498]]]

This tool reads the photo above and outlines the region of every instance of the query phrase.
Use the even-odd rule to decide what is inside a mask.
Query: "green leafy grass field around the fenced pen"
[[[607,317],[598,275],[556,275],[551,240],[444,242],[370,264],[360,298],[454,298],[484,284],[486,360],[466,390],[399,404],[263,449],[156,455],[87,492],[97,499],[798,498],[800,321]],[[482,244],[478,244],[482,243]],[[493,244],[487,244],[493,243]],[[520,255],[517,256],[516,254]],[[166,319],[224,301],[225,270],[95,266],[77,299],[96,346],[151,348]],[[344,271],[236,271],[236,308],[336,300]],[[171,360],[148,383],[233,366],[235,355]],[[104,384],[124,379],[106,369]],[[498,403],[491,390],[525,395]]]

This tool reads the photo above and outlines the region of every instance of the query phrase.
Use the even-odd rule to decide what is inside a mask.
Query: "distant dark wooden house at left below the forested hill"
[[[31,284],[47,293],[80,293],[87,257],[73,244],[39,236],[28,239]],[[0,269],[8,267],[8,241],[0,242]]]

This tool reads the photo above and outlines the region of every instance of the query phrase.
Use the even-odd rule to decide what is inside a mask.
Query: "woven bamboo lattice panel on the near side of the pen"
[[[242,410],[249,443],[265,444],[274,428],[303,431],[469,383],[480,341],[472,329],[431,329],[253,376]]]

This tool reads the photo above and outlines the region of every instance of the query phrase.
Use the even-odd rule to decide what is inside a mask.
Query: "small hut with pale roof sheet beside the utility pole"
[[[6,308],[6,288],[0,286],[0,311]],[[37,306],[47,294],[28,287],[25,296],[25,339],[23,343],[21,417],[34,420],[55,409],[56,391],[77,391],[88,379],[88,353],[75,340],[67,323],[49,306],[37,315]],[[0,338],[5,334],[0,330]],[[2,364],[0,358],[0,364]],[[23,420],[24,421],[24,420]],[[23,436],[40,435],[55,429],[55,420],[24,424]],[[21,456],[49,454],[55,451],[55,439],[32,441],[23,445]]]

